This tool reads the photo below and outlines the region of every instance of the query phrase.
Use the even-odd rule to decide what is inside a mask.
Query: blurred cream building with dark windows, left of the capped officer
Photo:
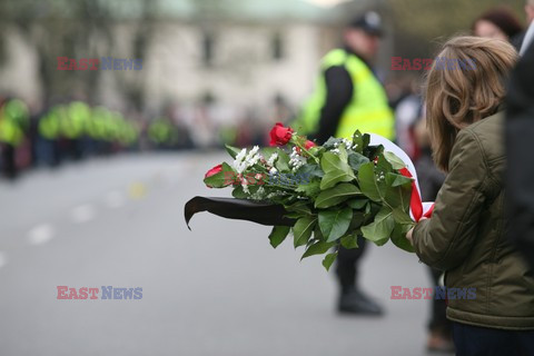
[[[148,102],[205,99],[264,108],[277,96],[300,102],[322,55],[336,44],[333,11],[299,0],[217,3],[206,12],[190,1],[161,3],[166,18],[144,67]]]

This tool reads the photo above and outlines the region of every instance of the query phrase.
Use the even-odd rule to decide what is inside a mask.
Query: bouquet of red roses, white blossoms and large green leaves
[[[210,188],[233,188],[237,199],[283,207],[289,224],[274,226],[273,247],[291,233],[295,248],[305,246],[301,258],[326,254],[326,269],[339,246],[357,248],[360,235],[378,246],[390,239],[413,251],[405,236],[424,209],[406,155],[403,160],[359,131],[317,146],[281,123],[271,129],[270,146],[227,146],[234,161],[214,167],[204,181]]]

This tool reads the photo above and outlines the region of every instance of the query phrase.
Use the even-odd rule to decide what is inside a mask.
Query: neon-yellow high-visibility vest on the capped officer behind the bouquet
[[[322,76],[313,96],[306,102],[296,129],[301,134],[318,130],[320,110],[326,101],[325,71],[330,67],[343,66],[354,83],[353,98],[345,108],[336,130],[336,137],[353,137],[354,131],[373,132],[393,140],[395,138],[394,116],[387,103],[387,96],[378,79],[367,65],[353,53],[335,49],[322,61]]]

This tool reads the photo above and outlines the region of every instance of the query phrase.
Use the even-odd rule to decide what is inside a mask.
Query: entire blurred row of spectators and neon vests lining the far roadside
[[[273,120],[260,126],[253,110],[241,115],[237,125],[217,123],[225,121],[218,119],[224,115],[226,110],[209,101],[194,108],[169,106],[164,115],[147,119],[80,100],[37,111],[19,98],[0,98],[0,171],[12,180],[34,167],[58,167],[95,156],[266,145],[270,121],[287,121],[290,110],[276,98]]]

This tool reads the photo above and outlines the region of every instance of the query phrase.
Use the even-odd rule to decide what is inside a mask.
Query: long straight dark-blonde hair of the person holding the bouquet
[[[517,60],[507,42],[479,37],[455,37],[437,56],[471,66],[433,62],[426,79],[426,117],[436,166],[448,171],[456,135],[466,126],[496,112],[505,81]]]

